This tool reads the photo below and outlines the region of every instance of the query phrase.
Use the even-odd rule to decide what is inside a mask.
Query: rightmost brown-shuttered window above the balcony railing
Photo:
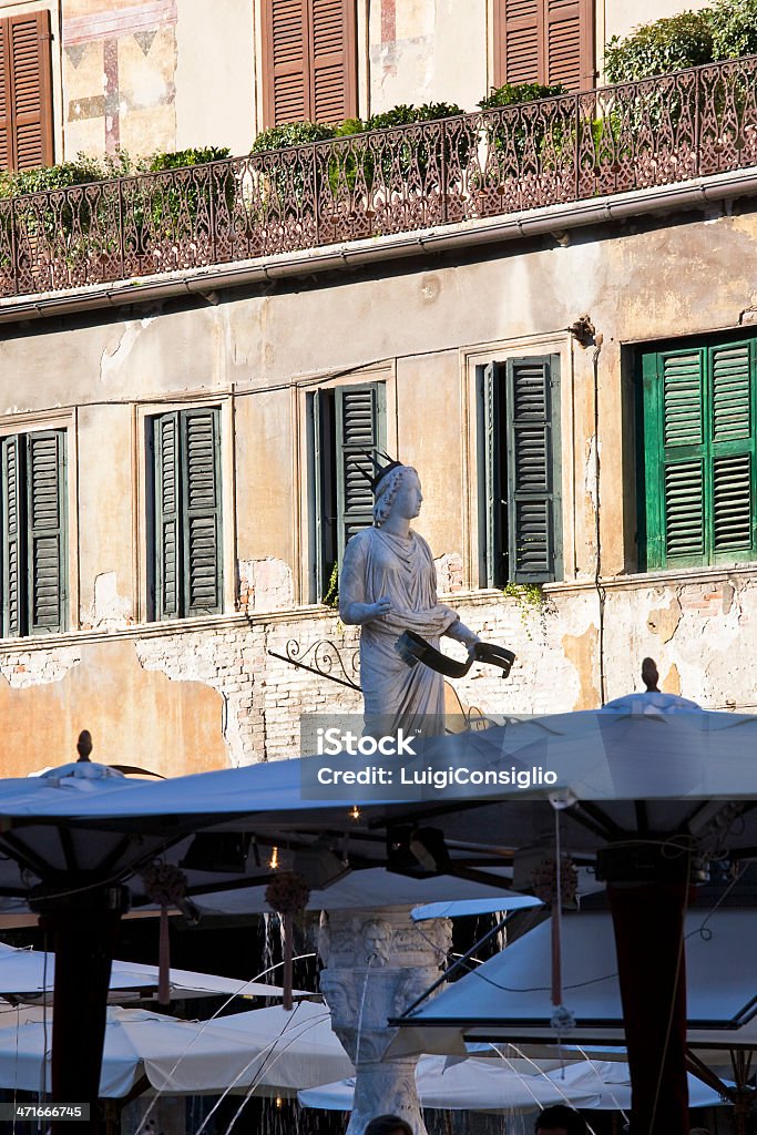
[[[594,86],[592,0],[495,0],[495,86]]]

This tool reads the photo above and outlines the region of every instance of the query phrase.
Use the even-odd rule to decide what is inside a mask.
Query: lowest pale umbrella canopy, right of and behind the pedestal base
[[[516,1061],[523,1066],[525,1061]],[[448,1111],[521,1111],[567,1103],[573,1108],[626,1111],[631,1105],[628,1065],[581,1060],[563,1069],[515,1070],[497,1059],[471,1057],[448,1063],[444,1057],[421,1057],[415,1084],[421,1104]],[[305,1108],[350,1111],[354,1077],[298,1092]],[[724,1101],[695,1076],[689,1077],[693,1108],[717,1107]]]

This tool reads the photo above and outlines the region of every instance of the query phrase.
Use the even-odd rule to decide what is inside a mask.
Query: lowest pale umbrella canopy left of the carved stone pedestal
[[[49,1091],[49,1010],[5,1011],[0,1025],[0,1087]],[[167,1094],[291,1095],[352,1071],[328,1009],[306,1001],[201,1022],[109,1008],[100,1096],[127,1095],[143,1076]]]

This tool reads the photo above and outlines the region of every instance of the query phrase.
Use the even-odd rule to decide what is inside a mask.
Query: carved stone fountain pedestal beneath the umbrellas
[[[379,1115],[406,1119],[415,1135],[426,1127],[415,1091],[415,1058],[384,1060],[397,1017],[439,976],[452,943],[448,918],[413,924],[410,907],[323,915],[319,953],[326,966],[321,991],[334,1032],[358,1074],[347,1135],[363,1135]]]

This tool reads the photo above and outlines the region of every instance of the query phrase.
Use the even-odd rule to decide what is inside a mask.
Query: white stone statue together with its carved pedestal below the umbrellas
[[[418,473],[398,461],[371,481],[373,527],[352,537],[339,574],[339,615],[361,628],[360,679],[365,734],[444,732],[444,676],[409,666],[395,644],[414,631],[437,648],[443,636],[473,655],[478,636],[439,603],[431,549],[413,532],[423,496]],[[355,1065],[355,1099],[347,1135],[363,1135],[369,1119],[392,1111],[426,1135],[415,1091],[415,1058],[387,1059],[395,1029],[388,1020],[436,981],[451,941],[446,919],[419,930],[410,909],[331,911],[319,951],[327,968],[321,990],[334,1028]]]

